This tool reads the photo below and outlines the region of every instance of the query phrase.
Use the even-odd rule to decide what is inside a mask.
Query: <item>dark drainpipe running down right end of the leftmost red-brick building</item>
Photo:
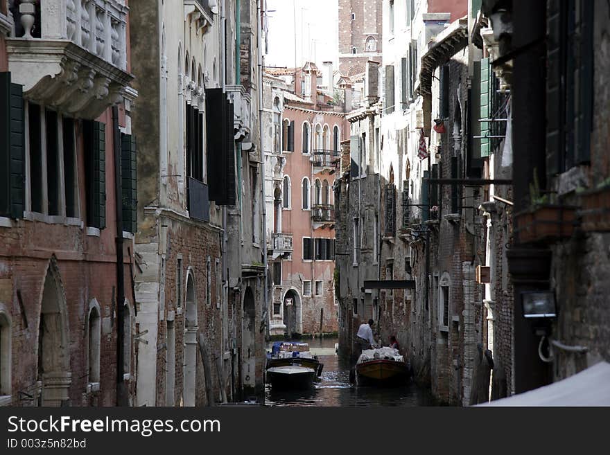
[[[112,137],[114,139],[114,211],[116,215],[116,404],[128,406],[127,389],[123,380],[123,318],[125,303],[125,267],[123,265],[123,192],[121,189],[121,130],[119,107],[112,107]]]

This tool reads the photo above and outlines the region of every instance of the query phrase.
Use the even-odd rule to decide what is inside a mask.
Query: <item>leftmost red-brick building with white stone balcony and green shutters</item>
[[[134,402],[130,14],[84,4],[0,1],[0,405]]]

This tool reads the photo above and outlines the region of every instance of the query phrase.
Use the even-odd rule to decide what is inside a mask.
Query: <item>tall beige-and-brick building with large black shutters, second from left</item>
[[[256,4],[132,1],[138,405],[262,399]]]

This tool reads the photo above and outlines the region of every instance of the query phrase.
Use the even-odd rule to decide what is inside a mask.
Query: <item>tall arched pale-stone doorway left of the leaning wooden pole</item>
[[[197,371],[197,296],[195,279],[186,274],[186,312],[184,315],[184,377],[182,378],[184,406],[195,406],[195,384]]]

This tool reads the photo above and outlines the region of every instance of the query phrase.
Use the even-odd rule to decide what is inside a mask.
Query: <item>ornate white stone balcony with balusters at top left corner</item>
[[[124,0],[22,0],[7,40],[8,69],[24,96],[96,118],[128,92]]]

